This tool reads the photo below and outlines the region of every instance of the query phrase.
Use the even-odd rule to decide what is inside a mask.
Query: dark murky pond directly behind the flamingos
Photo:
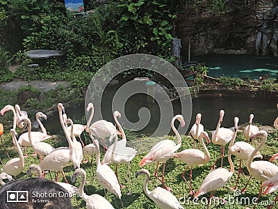
[[[206,130],[215,130],[218,123],[219,111],[224,109],[223,127],[233,127],[234,117],[238,116],[239,124],[247,123],[249,121],[249,115],[254,114],[254,123],[260,123],[261,125],[273,125],[275,118],[278,116],[278,110],[276,104],[277,98],[247,98],[247,97],[200,97],[192,100],[193,112],[191,118],[185,118],[186,121],[190,119],[190,127],[195,123],[195,116],[197,113],[202,114],[201,123]],[[113,114],[111,110],[111,103],[104,102],[104,106],[101,107],[101,113],[104,119],[113,122]],[[174,108],[174,114],[180,114],[181,106],[178,100],[172,102]],[[124,106],[125,116],[131,121],[136,123],[139,120],[138,111],[141,108],[147,108],[151,114],[149,123],[142,130],[138,130],[140,133],[152,134],[161,118],[160,108],[156,102],[147,102],[146,95],[138,94],[133,95],[126,101]],[[84,104],[76,108],[66,108],[67,115],[75,120],[80,120],[85,116]],[[123,113],[122,113],[123,114]],[[171,119],[171,118],[170,118]],[[92,121],[95,121],[94,118]],[[122,122],[119,119],[120,123]],[[188,123],[188,122],[187,122]],[[60,122],[58,121],[58,114],[50,116],[47,121],[44,121],[44,125],[51,134],[56,134],[60,128]],[[124,124],[122,124],[124,127]],[[170,123],[169,123],[170,127]],[[167,128],[167,127],[166,127]],[[137,127],[133,127],[136,130]],[[186,132],[186,130],[183,130]]]

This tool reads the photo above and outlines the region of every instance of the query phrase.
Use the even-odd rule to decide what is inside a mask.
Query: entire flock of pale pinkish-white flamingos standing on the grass
[[[278,108],[278,104],[277,104]],[[245,141],[236,141],[238,130],[239,118],[234,117],[234,127],[227,128],[221,127],[224,118],[224,110],[219,112],[219,120],[214,131],[209,132],[205,130],[204,125],[201,124],[202,114],[198,113],[196,116],[196,121],[193,127],[189,131],[190,137],[193,138],[193,147],[188,147],[183,150],[179,150],[183,144],[184,136],[179,133],[179,129],[175,127],[174,123],[177,121],[179,125],[183,127],[185,125],[185,118],[182,115],[177,114],[172,118],[169,124],[177,138],[177,142],[172,139],[163,139],[156,143],[149,152],[142,157],[140,162],[136,164],[138,167],[136,173],[131,176],[131,162],[136,155],[139,155],[138,151],[127,144],[128,139],[126,139],[126,134],[124,129],[120,124],[121,114],[119,111],[113,113],[115,125],[109,121],[101,120],[95,121],[91,124],[94,106],[89,103],[86,107],[86,111],[90,112],[90,117],[87,124],[74,124],[71,118],[67,117],[65,113],[65,107],[62,103],[58,103],[58,118],[60,125],[63,128],[65,138],[67,139],[67,146],[57,147],[51,146],[49,142],[44,142],[44,140],[49,139],[54,140],[53,136],[47,133],[44,125],[40,121],[40,118],[47,119],[47,116],[42,112],[38,112],[35,115],[38,124],[40,125],[41,131],[32,131],[31,119],[28,118],[26,111],[22,111],[19,105],[6,105],[1,109],[1,115],[11,110],[13,111],[13,128],[10,129],[11,141],[17,150],[18,157],[12,158],[3,164],[0,173],[0,183],[5,185],[8,181],[13,181],[13,179],[20,178],[19,174],[24,172],[26,169],[26,162],[28,162],[28,155],[25,149],[25,155],[23,155],[21,146],[30,146],[33,148],[34,154],[39,156],[38,164],[31,164],[26,171],[28,176],[32,176],[32,172],[35,172],[38,178],[45,178],[47,175],[52,179],[51,173],[56,173],[55,182],[58,183],[58,174],[62,173],[65,183],[58,183],[64,187],[70,194],[79,194],[79,197],[85,201],[86,208],[114,208],[113,203],[109,202],[105,196],[100,194],[86,194],[85,184],[88,183],[88,173],[86,173],[84,165],[88,162],[88,158],[84,158],[83,155],[90,155],[91,157],[96,157],[95,165],[96,170],[92,170],[95,178],[99,185],[104,188],[104,193],[106,190],[115,195],[117,199],[121,201],[121,207],[124,208],[124,203],[122,202],[123,196],[131,196],[131,180],[136,180],[140,175],[144,175],[145,181],[142,185],[142,192],[145,192],[146,196],[153,201],[159,208],[175,208],[181,209],[184,207],[178,200],[177,196],[172,194],[172,189],[166,185],[165,180],[165,168],[168,160],[174,159],[181,164],[184,164],[185,168],[181,170],[181,179],[184,181],[185,186],[188,187],[188,195],[192,196],[196,201],[199,196],[205,195],[208,192],[211,194],[208,197],[207,208],[211,205],[211,199],[220,199],[220,197],[215,197],[214,194],[218,189],[229,184],[229,180],[234,175],[236,169],[238,169],[238,175],[236,177],[236,184],[234,187],[229,189],[238,189],[238,182],[240,180],[240,173],[243,171],[243,161],[246,162],[246,169],[250,174],[250,178],[247,180],[245,187],[241,188],[242,194],[248,191],[247,185],[250,183],[250,179],[254,178],[261,182],[261,187],[258,189],[257,202],[254,204],[254,208],[263,195],[268,195],[272,192],[278,190],[278,167],[272,161],[278,159],[278,153],[272,155],[270,161],[265,161],[263,155],[261,155],[260,150],[265,145],[265,141],[268,139],[268,132],[265,130],[259,130],[259,127],[252,124],[254,115],[250,114],[249,124],[243,130]],[[274,121],[274,127],[278,128],[278,117]],[[1,124],[2,125],[2,124]],[[68,126],[70,125],[70,126]],[[176,124],[177,125],[177,124]],[[3,128],[1,126],[1,135],[3,134]],[[18,134],[19,131],[23,132],[23,128],[27,127],[28,131],[22,134]],[[19,130],[19,131],[18,131]],[[90,144],[84,144],[81,139],[81,134],[83,132],[88,132],[90,139],[92,140]],[[118,138],[120,135],[120,138]],[[79,141],[76,140],[79,137]],[[253,139],[258,138],[260,142],[257,146],[252,146],[250,144]],[[104,146],[104,150],[99,148],[99,140]],[[120,140],[119,140],[120,139]],[[206,143],[204,141],[206,139]],[[59,140],[59,139],[55,139]],[[1,141],[2,142],[2,141]],[[86,143],[88,141],[85,141]],[[202,180],[199,188],[193,189],[193,170],[195,167],[199,167],[204,171],[204,165],[210,164],[211,153],[208,145],[210,143],[215,145],[220,145],[220,156],[216,157],[215,162],[211,166],[211,171],[208,172],[207,176]],[[195,143],[199,144],[196,148]],[[229,169],[223,167],[223,159],[225,157],[225,147],[229,144],[227,160],[229,162]],[[3,142],[2,142],[3,147]],[[202,149],[202,150],[201,150]],[[103,151],[103,153],[102,153]],[[8,154],[8,153],[7,153]],[[232,155],[239,159],[239,167],[236,168],[234,165]],[[8,156],[9,157],[9,156]],[[102,160],[101,160],[101,157]],[[218,165],[218,159],[221,157],[220,167],[215,168]],[[234,158],[234,159],[236,159]],[[261,160],[254,160],[255,158],[260,158]],[[113,171],[111,164],[115,163],[115,171]],[[161,176],[158,176],[160,172],[159,165],[162,163]],[[91,161],[93,167],[93,161]],[[120,183],[120,178],[118,176],[118,165],[127,164],[127,182],[128,189],[126,194],[123,194],[124,185]],[[153,167],[152,164],[156,164]],[[73,168],[73,174],[70,178],[65,175],[65,167],[67,167],[67,172],[69,170],[68,166]],[[144,168],[142,168],[144,167]],[[154,169],[154,177],[161,183],[162,187],[156,187],[149,190],[148,183],[151,181],[151,175],[148,169]],[[189,179],[186,179],[186,172],[189,171]],[[171,171],[168,173],[170,174]],[[72,185],[76,182],[76,179],[81,177],[80,186],[75,187]],[[133,177],[136,177],[133,178]],[[68,182],[71,180],[72,184]],[[1,190],[1,187],[0,187]],[[196,191],[196,192],[195,192]],[[187,193],[187,192],[186,192]],[[135,197],[138,198],[138,197]],[[276,203],[278,201],[278,195],[274,199]],[[273,205],[268,206],[268,209],[272,208]]]

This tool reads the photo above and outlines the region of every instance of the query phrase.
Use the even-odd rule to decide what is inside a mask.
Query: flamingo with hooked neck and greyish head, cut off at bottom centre
[[[177,198],[166,189],[156,187],[154,190],[149,191],[147,184],[151,175],[146,169],[140,169],[140,171],[135,174],[136,178],[141,174],[146,175],[143,187],[145,194],[149,197],[149,199],[152,199],[158,207],[163,209],[183,209],[183,206],[181,206],[181,203],[179,203]]]

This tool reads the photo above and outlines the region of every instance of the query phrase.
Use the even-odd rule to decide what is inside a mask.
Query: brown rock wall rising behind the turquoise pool
[[[208,1],[207,1],[208,2]],[[276,1],[226,1],[227,10],[214,14],[207,7],[185,4],[177,18],[181,54],[256,54],[256,34]]]

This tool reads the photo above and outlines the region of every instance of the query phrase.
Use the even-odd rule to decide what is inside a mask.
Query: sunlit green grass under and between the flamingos
[[[8,130],[5,130],[6,132],[3,134],[2,139],[4,141],[6,150],[8,151],[10,157],[17,157],[18,154],[15,151],[15,148],[13,147],[13,142],[10,136],[10,133]],[[18,130],[19,131],[19,130]],[[266,142],[265,146],[261,149],[261,154],[263,155],[263,160],[268,160],[272,154],[278,153],[278,141],[277,141],[277,131],[270,132],[268,135],[268,141]],[[58,146],[67,146],[65,143],[65,136],[63,134],[60,134],[60,137],[49,139],[47,142],[50,144],[53,144],[55,147]],[[128,137],[128,136],[127,136]],[[174,137],[166,136],[162,137],[163,139],[174,139]],[[147,137],[143,137],[141,139],[134,139],[133,140],[140,140],[140,154],[134,157],[132,163],[131,163],[131,192],[132,194],[129,196],[127,195],[127,183],[126,183],[126,171],[127,171],[127,165],[122,164],[119,166],[119,176],[120,181],[122,184],[126,185],[124,189],[122,189],[122,202],[124,204],[124,208],[158,208],[154,202],[147,198],[145,195],[142,187],[143,182],[145,180],[145,176],[138,176],[138,178],[135,177],[135,173],[140,170],[140,167],[138,166],[140,160],[142,157],[144,157],[147,154],[147,151],[149,150],[149,147],[151,147],[155,141],[159,141],[162,138],[156,138],[156,139],[148,139]],[[128,137],[129,139],[129,137]],[[192,148],[193,146],[193,139],[188,136],[182,136],[182,145],[179,151],[185,149],[185,148]],[[236,141],[242,141],[244,140],[243,134],[241,132],[238,132],[238,136],[236,138]],[[254,141],[254,146],[256,144],[259,144],[260,139]],[[151,143],[151,144],[149,144]],[[138,143],[136,143],[138,144]],[[139,148],[139,147],[138,147]],[[1,149],[1,160],[3,163],[8,162],[8,157],[6,155],[6,150]],[[102,150],[102,149],[101,149]],[[211,154],[211,161],[208,162],[208,164],[204,164],[200,167],[195,167],[193,169],[193,189],[197,191],[199,186],[202,184],[202,180],[206,177],[208,172],[210,171],[210,167],[215,161],[216,157],[220,154],[220,146],[216,146],[214,144],[208,145],[208,150]],[[25,159],[25,169],[24,172],[19,174],[18,178],[27,178],[26,176],[26,170],[28,169],[28,166],[30,164],[39,164],[38,159],[33,157],[31,154],[33,153],[32,148],[27,148],[29,157]],[[102,155],[101,155],[102,157]],[[245,194],[241,194],[240,196],[235,196],[234,192],[231,191],[230,187],[234,187],[236,183],[236,176],[238,171],[238,160],[236,157],[232,156],[232,160],[235,164],[236,171],[234,175],[229,180],[229,183],[222,187],[221,189],[218,189],[217,192],[215,192],[215,196],[219,196],[221,198],[225,198],[227,201],[230,199],[230,203],[226,203],[224,205],[218,206],[213,205],[211,208],[246,208],[250,207],[252,208],[252,204],[244,204],[243,198],[255,198],[259,194],[259,180],[255,180],[252,178],[250,180],[250,184],[247,187],[247,192]],[[145,169],[149,170],[150,173],[154,173],[156,164],[151,164],[145,167]],[[209,193],[205,194],[203,196],[200,196],[199,199],[202,201],[197,201],[193,203],[192,197],[188,195],[188,186],[186,183],[183,182],[181,178],[181,173],[183,172],[183,169],[185,169],[186,165],[183,164],[183,162],[177,160],[176,158],[172,158],[167,161],[166,169],[165,169],[165,183],[168,187],[172,188],[172,194],[177,197],[177,199],[181,199],[181,202],[183,203],[184,208],[206,208],[205,205],[202,205],[202,202],[205,203],[205,199],[203,197],[208,198]],[[220,160],[218,161],[217,167],[220,167]],[[227,147],[225,151],[225,157],[224,157],[224,167],[227,169],[230,169],[229,162],[227,161]],[[95,178],[95,157],[94,157],[94,163],[93,168],[91,167],[90,163],[88,164],[81,164],[81,168],[85,169],[87,173],[87,183],[85,185],[85,192],[90,194],[100,194],[104,196],[104,189],[99,185],[97,178]],[[111,169],[115,170],[115,164],[111,164]],[[72,164],[68,164],[67,167],[64,169],[65,175],[67,180],[70,182],[71,176],[74,173],[74,168],[72,167]],[[162,166],[158,169],[158,175],[161,175],[162,172]],[[49,174],[47,174],[46,178],[50,178]],[[52,178],[54,178],[54,173],[52,173]],[[189,170],[186,173],[186,179],[189,178]],[[243,162],[243,174],[240,175],[240,183],[239,188],[243,188],[245,183],[247,182],[247,179],[249,178],[248,171],[245,167],[245,162]],[[63,181],[62,176],[59,178],[60,181]],[[80,180],[77,180],[74,185],[79,187]],[[152,190],[155,187],[161,186],[161,183],[154,178],[154,176],[151,177],[151,180],[149,181],[149,189]],[[110,192],[107,192],[107,199],[115,208],[121,208],[121,202],[117,197]],[[272,201],[275,199],[276,194],[268,194],[266,196],[263,196],[259,199],[259,205],[256,206],[256,208],[266,208],[266,206],[263,206],[262,203],[266,203],[266,201]],[[186,200],[184,200],[184,198]],[[189,198],[189,199],[188,199]],[[203,198],[203,199],[202,199]],[[243,201],[243,204],[240,204],[240,200]],[[264,202],[263,202],[264,201]],[[238,203],[237,203],[238,202]],[[80,197],[74,197],[72,198],[72,205],[74,208],[85,208],[85,201],[83,201]],[[275,207],[274,207],[275,208]],[[277,207],[276,207],[277,208]]]

